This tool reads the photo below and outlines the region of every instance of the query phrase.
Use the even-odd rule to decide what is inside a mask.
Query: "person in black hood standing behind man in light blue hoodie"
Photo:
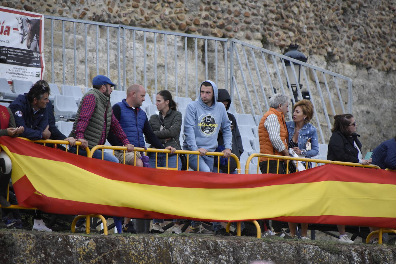
[[[223,103],[225,106],[226,111],[230,109],[230,104],[231,104],[231,98],[230,94],[226,89],[219,89],[219,95],[217,98],[217,102]],[[232,149],[231,152],[234,153],[237,157],[238,160],[241,158],[242,153],[244,152],[244,148],[242,146],[242,138],[241,134],[239,133],[238,125],[236,123],[235,116],[233,114],[230,114],[227,112],[228,119],[231,122],[231,132],[232,132]],[[215,152],[222,152],[224,150],[224,140],[223,140],[223,133],[219,132],[219,135],[217,136],[217,142],[219,143],[219,146],[216,148]],[[217,157],[215,157],[214,163],[213,163],[213,171],[212,172],[217,172]],[[220,167],[219,167],[219,173],[228,173],[228,161],[225,158],[220,158]],[[229,173],[237,173],[236,171],[236,161],[234,159],[230,159],[230,172]]]

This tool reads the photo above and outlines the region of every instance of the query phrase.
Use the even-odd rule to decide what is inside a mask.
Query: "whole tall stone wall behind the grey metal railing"
[[[394,93],[396,85],[396,6],[389,0],[376,1],[291,1],[291,0],[0,0],[2,6],[25,9],[54,16],[72,17],[91,21],[120,23],[137,27],[155,28],[172,32],[187,32],[206,36],[237,38],[251,44],[284,53],[291,42],[300,45],[308,56],[308,63],[348,76],[353,80],[352,114],[362,135],[363,152],[372,150],[380,142],[394,137],[396,120]],[[72,30],[70,26],[67,30]],[[46,27],[46,30],[48,28]],[[61,38],[59,26],[55,27],[54,38]],[[86,38],[94,39],[95,32],[88,31]],[[105,34],[103,30],[99,34]],[[139,36],[141,38],[141,36]],[[82,47],[84,35],[78,36],[77,45]],[[150,42],[152,40],[148,40]],[[65,40],[67,58],[73,57],[72,38]],[[127,49],[132,49],[128,44]],[[200,63],[198,80],[204,79],[203,41],[198,42]],[[105,45],[101,45],[104,48]],[[110,45],[112,65],[110,76],[117,76],[116,45]],[[135,47],[133,47],[135,48]],[[143,49],[137,46],[139,52]],[[49,78],[49,49],[46,50],[46,76]],[[62,79],[62,47],[55,46],[55,82]],[[219,50],[221,47],[219,46]],[[150,50],[152,52],[152,50]],[[173,56],[169,49],[169,57]],[[213,46],[211,47],[213,52]],[[88,80],[96,75],[95,50],[88,51]],[[77,74],[84,74],[84,64],[78,53]],[[83,54],[84,55],[84,54]],[[183,54],[184,55],[184,54]],[[188,54],[193,61],[193,54]],[[131,60],[127,54],[126,60]],[[134,59],[134,58],[133,58]],[[169,83],[173,80],[170,69],[174,62],[168,61]],[[172,65],[173,63],[173,65]],[[99,73],[106,74],[105,59],[100,63]],[[92,66],[93,65],[93,66]],[[128,64],[127,64],[128,65]],[[138,61],[137,75],[142,80],[143,61]],[[164,76],[164,62],[159,62],[159,72]],[[221,65],[221,63],[220,63]],[[189,69],[195,65],[189,66]],[[148,63],[148,67],[152,64]],[[158,66],[157,66],[158,67]],[[212,68],[210,68],[212,67]],[[152,68],[151,68],[152,69]],[[223,70],[219,69],[219,70]],[[65,83],[74,83],[74,65],[67,63]],[[127,72],[128,74],[128,72]],[[182,75],[182,74],[181,74]],[[117,76],[118,77],[118,76]],[[112,78],[117,78],[112,77]],[[180,78],[180,77],[179,77]],[[213,78],[213,65],[209,65],[209,78]],[[312,77],[311,77],[312,79]],[[185,86],[184,78],[179,85]],[[132,80],[128,76],[126,86]],[[148,80],[147,89],[153,93],[153,80]],[[164,87],[164,80],[158,80]],[[184,82],[184,83],[183,83]],[[224,85],[219,81],[219,86]],[[78,78],[77,85],[85,86]],[[229,84],[228,84],[229,85]],[[89,85],[88,85],[89,86]],[[195,97],[195,78],[188,79],[188,96]],[[181,89],[179,92],[185,94]],[[244,91],[241,90],[243,94]],[[248,104],[243,97],[243,104]],[[319,102],[318,100],[316,100]],[[238,109],[238,108],[237,108]],[[329,116],[332,121],[332,116]],[[321,120],[321,123],[326,122]],[[326,128],[327,129],[327,128]],[[326,140],[329,134],[326,133]]]

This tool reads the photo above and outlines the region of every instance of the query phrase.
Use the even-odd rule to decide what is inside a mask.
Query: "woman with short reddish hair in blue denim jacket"
[[[316,127],[309,121],[314,114],[314,107],[309,100],[301,100],[293,106],[293,121],[286,122],[287,131],[289,132],[289,148],[303,158],[311,158],[319,153],[318,133]],[[311,150],[306,150],[305,145],[308,139],[311,142]],[[311,163],[308,163],[308,168]],[[290,236],[296,237],[296,224],[290,223]],[[301,223],[301,239],[309,239],[307,236],[308,223]]]

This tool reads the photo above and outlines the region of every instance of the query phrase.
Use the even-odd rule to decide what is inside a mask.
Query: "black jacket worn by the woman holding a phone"
[[[345,137],[339,131],[334,132],[329,140],[327,160],[358,163],[359,151],[353,144],[353,141],[355,141],[358,148],[360,150],[362,149],[362,143],[360,143],[358,137],[360,137],[360,135],[356,133],[352,133],[350,137]]]

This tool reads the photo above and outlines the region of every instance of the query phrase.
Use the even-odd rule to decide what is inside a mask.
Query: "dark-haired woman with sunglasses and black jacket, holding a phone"
[[[356,121],[351,114],[342,114],[334,116],[334,124],[331,132],[333,133],[329,140],[327,150],[327,160],[345,161],[368,165],[369,160],[362,158],[362,143],[360,143],[358,134],[356,134]],[[346,235],[345,226],[337,225],[340,232],[339,241],[342,243],[353,243]]]

